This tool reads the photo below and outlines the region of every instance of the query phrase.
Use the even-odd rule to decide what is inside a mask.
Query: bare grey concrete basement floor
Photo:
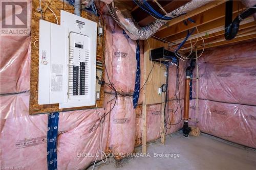
[[[140,152],[141,147],[136,151]],[[148,144],[147,152],[151,157],[126,158],[121,162],[109,158],[95,169],[256,169],[255,150],[207,134],[184,138],[180,131],[166,136],[165,145],[159,140]],[[180,157],[154,157],[154,153],[178,153]]]

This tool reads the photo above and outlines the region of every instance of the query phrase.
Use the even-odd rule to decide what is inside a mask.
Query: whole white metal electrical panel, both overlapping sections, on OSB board
[[[38,104],[95,105],[97,23],[63,10],[60,18],[40,20]]]

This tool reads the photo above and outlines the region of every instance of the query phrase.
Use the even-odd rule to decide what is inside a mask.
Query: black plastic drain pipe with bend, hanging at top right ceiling
[[[254,14],[256,12],[256,5],[247,8],[244,12],[239,14],[232,21],[232,13],[233,13],[233,1],[226,2],[226,18],[225,18],[225,39],[231,40],[236,37],[239,31],[239,25],[242,20],[247,18],[248,16]]]

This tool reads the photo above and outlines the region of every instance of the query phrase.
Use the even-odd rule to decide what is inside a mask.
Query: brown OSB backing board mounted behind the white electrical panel
[[[60,10],[65,10],[67,12],[73,13],[73,6],[63,2],[63,1],[42,1],[41,6],[44,11],[44,18],[47,21],[56,23],[55,16],[53,13],[47,8],[47,5],[52,9],[52,11],[56,14],[59,22],[60,22]],[[39,19],[41,14],[37,12],[39,8],[39,1],[32,1],[32,15],[31,15],[31,72],[30,72],[30,105],[29,105],[29,113],[30,114],[38,114],[38,113],[49,113],[49,112],[62,112],[62,111],[71,111],[71,110],[81,110],[81,109],[91,109],[96,108],[96,106],[88,106],[88,107],[75,107],[75,108],[67,108],[67,109],[59,109],[58,104],[51,105],[38,105],[38,49],[34,46],[34,42],[39,39]],[[92,13],[82,11],[81,16],[83,18],[90,19],[95,22],[99,22],[99,18],[93,15]],[[101,23],[102,24],[102,23]],[[105,30],[104,30],[105,31]],[[105,39],[105,37],[104,37]],[[97,40],[98,41],[98,40]],[[38,46],[38,42],[36,42]],[[103,59],[103,51],[102,51],[102,38],[100,45],[97,45],[97,56],[100,56]],[[101,87],[100,92],[100,100],[97,100],[97,106],[103,107],[103,99],[104,92],[103,86]]]

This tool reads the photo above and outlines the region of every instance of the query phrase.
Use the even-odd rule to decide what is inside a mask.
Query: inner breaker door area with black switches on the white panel
[[[69,44],[69,99],[86,99],[89,94],[90,39],[70,33]]]

